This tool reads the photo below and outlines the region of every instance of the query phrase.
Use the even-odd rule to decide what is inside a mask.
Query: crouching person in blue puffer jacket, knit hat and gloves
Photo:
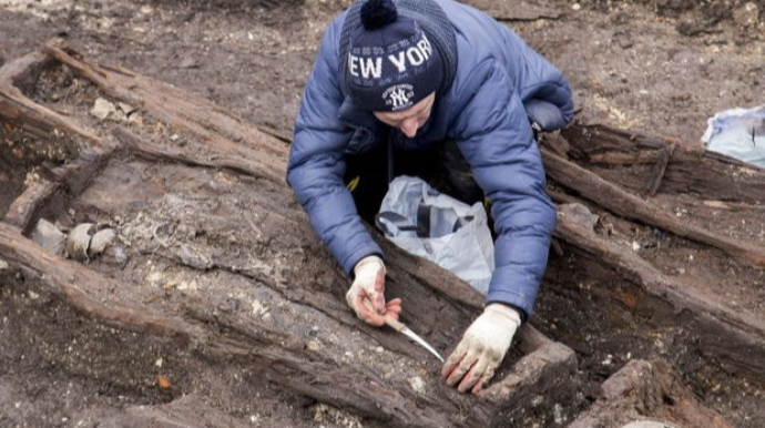
[[[325,31],[287,182],[351,279],[346,299],[358,317],[381,326],[385,316],[398,318],[401,302],[385,299],[384,254],[356,206],[365,179],[350,177],[350,169],[381,175],[382,190],[371,191],[379,206],[389,159],[428,159],[452,141],[491,203],[496,269],[486,306],[441,370],[460,393],[484,387],[532,316],[555,224],[534,129],[560,129],[572,115],[561,72],[466,4],[358,0]]]

